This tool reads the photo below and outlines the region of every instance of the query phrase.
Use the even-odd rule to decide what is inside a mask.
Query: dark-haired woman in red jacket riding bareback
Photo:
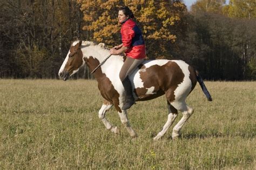
[[[126,59],[119,73],[119,78],[124,85],[126,92],[126,101],[123,110],[130,108],[135,100],[132,95],[132,86],[129,75],[143,62],[146,58],[145,43],[142,31],[132,20],[134,18],[132,11],[127,7],[122,7],[118,11],[118,21],[121,26],[122,44],[110,49],[111,55],[119,55],[125,52]]]

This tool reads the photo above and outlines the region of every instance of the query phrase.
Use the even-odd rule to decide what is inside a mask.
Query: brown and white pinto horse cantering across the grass
[[[127,117],[127,111],[121,109],[126,97],[124,86],[118,75],[126,57],[112,55],[106,60],[107,56],[110,56],[110,50],[103,43],[96,44],[77,40],[71,44],[68,55],[59,69],[59,78],[67,80],[86,64],[91,72],[95,71],[93,76],[96,78],[98,89],[104,98],[98,112],[99,119],[102,120],[107,130],[119,133],[118,127],[112,125],[105,117],[106,112],[114,106],[130,136],[136,137],[137,134]],[[95,70],[97,67],[98,69]],[[183,117],[173,127],[172,139],[180,136],[181,127],[194,112],[193,108],[186,104],[185,99],[192,92],[197,81],[207,99],[212,100],[199,73],[182,60],[145,60],[134,70],[129,79],[136,101],[151,100],[165,94],[169,113],[167,122],[153,140],[163,137],[176,119],[178,111],[183,114]]]

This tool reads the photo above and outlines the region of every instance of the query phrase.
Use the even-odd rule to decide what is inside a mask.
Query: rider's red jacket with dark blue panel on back
[[[128,19],[121,26],[121,36],[123,46],[129,47],[125,51],[127,57],[134,59],[146,58],[146,48],[142,31],[132,19]]]

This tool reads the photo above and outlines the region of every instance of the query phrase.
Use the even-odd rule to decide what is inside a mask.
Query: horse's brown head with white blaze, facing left
[[[82,40],[71,44],[68,55],[59,69],[59,78],[65,81],[75,74],[85,62],[83,60],[83,52],[81,50]]]

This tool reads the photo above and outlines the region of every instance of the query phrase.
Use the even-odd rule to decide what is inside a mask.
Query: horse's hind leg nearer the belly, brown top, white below
[[[168,107],[168,119],[167,122],[165,123],[163,130],[161,130],[156,137],[154,137],[154,140],[158,140],[161,137],[163,137],[163,135],[167,132],[167,130],[169,129],[169,127],[172,125],[173,121],[176,119],[177,115],[178,115],[178,111],[176,108],[174,108],[169,101],[167,101],[167,107]]]

